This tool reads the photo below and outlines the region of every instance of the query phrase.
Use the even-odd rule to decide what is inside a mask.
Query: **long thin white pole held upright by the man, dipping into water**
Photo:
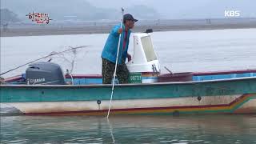
[[[122,8],[122,17],[123,17],[123,13],[124,13],[124,10]],[[120,28],[122,28],[122,19],[121,19],[121,23],[120,23]],[[112,98],[113,98],[113,94],[114,94],[114,80],[115,80],[115,76],[116,76],[116,73],[117,73],[117,67],[118,67],[118,55],[119,55],[119,46],[120,46],[120,42],[121,42],[121,36],[122,36],[122,33],[119,34],[118,53],[117,53],[117,57],[115,59],[114,76],[113,76],[112,91],[111,91],[111,97],[110,97],[110,106],[109,106],[109,110],[107,112],[106,118],[109,118],[109,116],[110,116],[110,108],[111,108]]]

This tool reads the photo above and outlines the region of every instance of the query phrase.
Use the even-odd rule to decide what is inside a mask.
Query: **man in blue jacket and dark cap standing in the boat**
[[[121,34],[121,42],[118,54],[118,68],[117,76],[119,83],[128,83],[129,70],[126,67],[126,58],[130,61],[131,56],[127,53],[130,38],[130,29],[134,28],[134,23],[137,19],[131,14],[125,14],[123,16],[123,25],[120,27],[114,26],[110,31],[109,37],[106,40],[106,44],[102,50],[102,83],[110,84],[112,82],[114,74],[114,66],[118,53],[118,41],[119,34]]]

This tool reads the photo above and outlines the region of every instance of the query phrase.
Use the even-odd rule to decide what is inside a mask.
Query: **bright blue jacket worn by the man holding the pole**
[[[106,44],[102,50],[102,58],[106,58],[110,62],[116,61],[117,53],[118,53],[118,41],[119,41],[119,34],[118,29],[120,25],[114,26],[113,29],[110,31],[109,37],[106,39]],[[129,38],[130,38],[130,30],[127,33],[127,41],[126,47],[123,47],[123,40],[125,37],[125,26],[122,26],[122,35],[121,35],[121,42],[119,47],[119,54],[118,54],[118,64],[122,63],[122,59],[127,56],[128,46],[129,46]]]

